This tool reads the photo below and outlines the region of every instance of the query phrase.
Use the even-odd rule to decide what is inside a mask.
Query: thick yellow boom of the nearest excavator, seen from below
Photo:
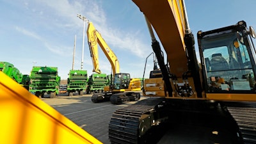
[[[168,55],[171,72],[181,77],[188,70],[184,52],[184,17],[179,0],[132,0],[152,24]]]

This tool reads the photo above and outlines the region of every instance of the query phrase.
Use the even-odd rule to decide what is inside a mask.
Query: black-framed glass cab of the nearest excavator
[[[249,37],[244,21],[198,32],[207,93],[255,93],[255,55]]]

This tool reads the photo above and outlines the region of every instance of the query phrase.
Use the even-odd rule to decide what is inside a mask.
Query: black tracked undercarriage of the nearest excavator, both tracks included
[[[111,143],[166,143],[165,140],[256,143],[255,110],[252,102],[148,98],[113,113],[109,140]]]

